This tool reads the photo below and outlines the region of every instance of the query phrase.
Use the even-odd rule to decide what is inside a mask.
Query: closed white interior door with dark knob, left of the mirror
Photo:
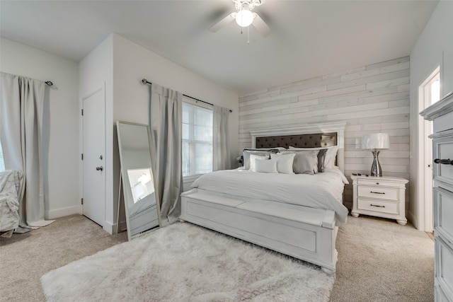
[[[84,216],[103,226],[105,209],[105,93],[101,88],[83,99]]]

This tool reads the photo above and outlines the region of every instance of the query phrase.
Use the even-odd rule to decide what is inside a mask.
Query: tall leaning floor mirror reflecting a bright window
[[[151,167],[151,137],[147,124],[117,121],[116,126],[127,238],[131,240],[161,225]]]

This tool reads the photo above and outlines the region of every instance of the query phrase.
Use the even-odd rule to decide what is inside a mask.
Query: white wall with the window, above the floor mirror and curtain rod
[[[149,86],[142,79],[233,110],[229,115],[231,163],[239,150],[239,95],[130,40],[114,37],[114,120],[148,124]],[[190,183],[184,184],[184,190]],[[117,192],[117,191],[114,191]]]

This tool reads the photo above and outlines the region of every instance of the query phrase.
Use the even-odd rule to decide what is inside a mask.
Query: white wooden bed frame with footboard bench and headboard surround
[[[340,147],[337,165],[344,172],[345,124],[330,122],[252,131],[252,147],[256,137],[336,132]],[[336,269],[338,226],[332,210],[282,208],[193,189],[181,194],[180,219],[319,265],[328,274]]]

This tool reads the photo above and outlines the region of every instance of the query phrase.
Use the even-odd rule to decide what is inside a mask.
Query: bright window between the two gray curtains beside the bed
[[[212,110],[183,102],[183,176],[212,172]]]

